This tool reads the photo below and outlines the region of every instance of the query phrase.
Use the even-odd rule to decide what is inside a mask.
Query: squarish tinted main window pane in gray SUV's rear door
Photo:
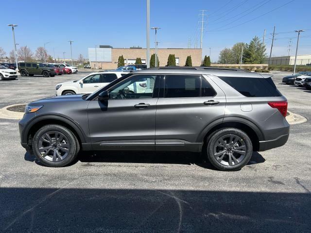
[[[200,76],[166,75],[164,98],[200,97]]]

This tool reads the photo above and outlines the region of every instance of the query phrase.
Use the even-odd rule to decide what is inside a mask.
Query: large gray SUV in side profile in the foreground
[[[80,150],[202,151],[220,170],[253,151],[284,145],[287,100],[269,74],[239,69],[157,67],[126,74],[87,95],[31,102],[21,145],[46,166]]]

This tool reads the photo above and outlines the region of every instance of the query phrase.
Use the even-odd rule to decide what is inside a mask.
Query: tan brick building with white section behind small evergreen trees
[[[150,56],[155,53],[155,49],[150,49]],[[201,66],[202,49],[158,49],[158,58],[160,66],[166,66],[170,54],[175,54],[176,65],[185,66],[187,56],[191,55],[192,66]],[[146,64],[146,49],[142,48],[112,48],[111,46],[101,46],[97,48],[88,48],[88,59],[91,67],[100,69],[116,69],[118,67],[118,58],[123,55],[124,65],[135,64],[137,57],[141,58],[142,64]],[[149,58],[150,59],[150,58]]]

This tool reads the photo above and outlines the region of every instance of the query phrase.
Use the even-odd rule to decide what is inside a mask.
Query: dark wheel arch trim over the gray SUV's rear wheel
[[[250,137],[254,151],[259,150],[259,141],[264,140],[263,133],[254,122],[241,116],[228,116],[210,123],[200,134],[198,141],[203,142],[202,146],[205,147],[209,136],[223,128],[237,128],[244,131]]]

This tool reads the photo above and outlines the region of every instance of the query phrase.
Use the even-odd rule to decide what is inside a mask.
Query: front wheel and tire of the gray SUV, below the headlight
[[[57,139],[60,141],[57,142]],[[46,150],[44,150],[44,148]],[[70,164],[79,152],[78,140],[62,125],[50,124],[40,128],[34,136],[32,150],[45,166],[62,167]]]

